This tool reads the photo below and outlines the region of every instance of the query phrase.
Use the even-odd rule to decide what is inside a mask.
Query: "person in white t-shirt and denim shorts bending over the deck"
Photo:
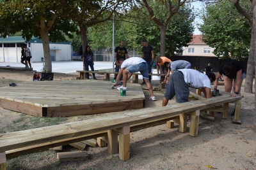
[[[118,81],[120,80],[121,75],[123,74],[123,85],[117,88],[118,90],[127,90],[127,80],[131,78],[132,73],[140,71],[150,92],[150,101],[156,101],[156,97],[153,94],[152,84],[150,83],[148,78],[148,64],[145,60],[140,57],[131,57],[126,60],[120,58],[118,59],[118,64],[121,66],[121,69],[116,76],[116,82],[113,83],[113,85],[116,86]]]

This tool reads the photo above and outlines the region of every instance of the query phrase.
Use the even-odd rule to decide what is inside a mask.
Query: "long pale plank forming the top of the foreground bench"
[[[235,101],[236,99],[241,99],[241,97],[218,97],[218,99],[214,99],[212,97],[209,99],[205,99],[204,101],[192,101],[185,104],[176,104],[175,106],[173,106],[173,108],[151,108],[149,113],[148,110],[145,110],[144,115],[136,115],[137,112],[134,111],[132,112],[132,115],[134,115],[133,117],[129,115],[130,113],[122,113],[122,115],[120,115],[120,117],[116,117],[115,120],[104,120],[100,123],[97,122],[97,124],[93,124],[92,122],[92,124],[88,125],[88,122],[92,120],[83,120],[79,122],[55,125],[51,127],[42,127],[26,131],[1,134],[2,136],[0,137],[0,152],[30,146],[31,143],[37,145],[40,143],[58,141],[65,138],[72,138],[73,136],[82,136],[86,134],[92,134],[95,132],[106,131],[106,129],[116,129],[119,127],[129,126],[132,124],[140,124],[142,122],[149,122],[161,118],[173,117],[180,113],[187,113],[193,110],[211,108],[213,105],[220,104],[223,102]],[[143,111],[139,112],[143,114]],[[86,129],[84,129],[85,126]],[[56,129],[54,129],[54,127],[56,127]],[[49,133],[45,133],[45,131],[49,131]],[[17,141],[18,137],[19,141]]]

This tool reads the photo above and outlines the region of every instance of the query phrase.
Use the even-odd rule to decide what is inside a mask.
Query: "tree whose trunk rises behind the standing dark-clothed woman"
[[[81,41],[83,52],[88,44],[87,31],[88,27],[95,24],[111,20],[115,10],[124,3],[122,0],[106,0],[106,1],[63,1],[56,0],[67,11],[68,16],[77,23],[81,32]],[[107,15],[106,15],[107,13]]]

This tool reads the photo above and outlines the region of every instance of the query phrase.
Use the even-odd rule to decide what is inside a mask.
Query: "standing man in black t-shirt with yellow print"
[[[126,57],[126,58],[125,58]],[[129,59],[129,56],[128,56],[128,52],[127,52],[127,49],[124,47],[124,41],[120,41],[120,45],[119,46],[116,46],[116,49],[115,49],[115,72],[119,72],[119,69],[121,68],[120,66],[118,66],[118,60],[120,58],[123,58],[123,59]],[[114,79],[116,80],[116,76],[117,74],[115,74],[115,77]],[[121,76],[120,78],[120,81],[123,80],[123,76]]]

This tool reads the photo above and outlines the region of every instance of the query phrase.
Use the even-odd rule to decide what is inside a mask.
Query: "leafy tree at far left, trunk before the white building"
[[[27,41],[35,36],[42,39],[45,58],[45,71],[52,72],[49,41],[65,41],[62,32],[68,36],[76,31],[74,23],[55,1],[1,1],[0,32],[3,36],[22,31]]]

